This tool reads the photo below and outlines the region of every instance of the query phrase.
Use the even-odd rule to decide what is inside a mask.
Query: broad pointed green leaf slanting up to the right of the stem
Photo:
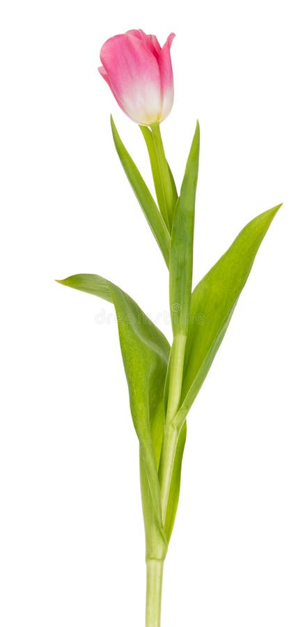
[[[185,349],[180,410],[181,426],[221,344],[238,297],[247,281],[265,233],[278,205],[258,215],[237,235],[226,253],[205,275],[191,297],[191,321]]]

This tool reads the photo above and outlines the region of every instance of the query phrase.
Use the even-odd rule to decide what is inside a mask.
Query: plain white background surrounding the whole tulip
[[[199,13],[199,8],[201,13]],[[162,627],[304,627],[302,2],[6,1],[1,15],[2,627],[143,626],[138,447],[96,272],[166,321],[166,268],[109,129],[150,182],[100,46],[174,31],[178,181],[201,121],[194,284],[283,202],[189,415]],[[102,320],[109,314],[109,318]]]

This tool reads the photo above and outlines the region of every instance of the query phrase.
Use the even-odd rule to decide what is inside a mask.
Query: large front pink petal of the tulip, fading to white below
[[[162,92],[155,54],[146,45],[143,31],[117,35],[102,46],[102,76],[120,107],[139,124],[159,119]],[[107,76],[107,78],[106,78]]]

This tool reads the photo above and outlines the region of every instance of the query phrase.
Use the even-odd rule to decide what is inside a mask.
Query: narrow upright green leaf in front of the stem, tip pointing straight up
[[[199,124],[189,151],[180,198],[175,207],[169,261],[169,297],[173,334],[187,335],[191,306],[196,185],[199,167]]]

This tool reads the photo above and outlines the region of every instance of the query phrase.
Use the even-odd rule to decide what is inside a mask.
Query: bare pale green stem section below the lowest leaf
[[[160,559],[146,562],[146,627],[160,627],[163,564]]]

